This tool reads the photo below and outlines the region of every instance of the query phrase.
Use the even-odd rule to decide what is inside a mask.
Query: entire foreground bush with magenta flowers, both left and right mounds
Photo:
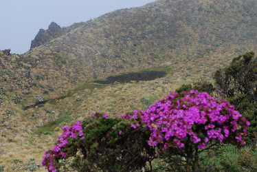
[[[229,139],[245,144],[247,127],[249,122],[221,98],[194,90],[171,92],[146,111],[115,118],[95,113],[63,127],[57,146],[45,152],[43,165],[48,171],[130,171],[142,168],[161,148],[168,156],[186,158],[186,171],[191,164],[197,171],[199,150]]]

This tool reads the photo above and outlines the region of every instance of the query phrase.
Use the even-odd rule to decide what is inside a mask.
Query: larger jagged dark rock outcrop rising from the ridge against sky
[[[34,47],[39,47],[40,45],[49,43],[50,41],[52,41],[52,39],[55,39],[62,34],[63,30],[62,28],[60,28],[60,25],[52,22],[47,30],[39,30],[38,34],[36,34],[35,39],[31,41],[30,50],[32,50]]]

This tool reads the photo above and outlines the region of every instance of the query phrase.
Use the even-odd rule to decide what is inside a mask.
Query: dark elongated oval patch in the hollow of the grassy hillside
[[[155,80],[156,78],[162,78],[166,76],[164,71],[150,71],[150,72],[141,72],[141,73],[130,73],[122,74],[118,76],[109,76],[106,80],[96,80],[94,83],[100,84],[112,84],[115,82],[119,83],[129,83],[131,80]]]

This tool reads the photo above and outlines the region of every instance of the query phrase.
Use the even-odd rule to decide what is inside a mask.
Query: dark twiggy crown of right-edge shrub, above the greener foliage
[[[247,52],[233,59],[232,63],[214,74],[216,91],[223,97],[247,94],[257,100],[257,66],[254,52]]]

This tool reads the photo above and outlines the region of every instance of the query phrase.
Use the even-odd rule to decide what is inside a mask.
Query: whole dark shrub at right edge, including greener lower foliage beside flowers
[[[257,132],[257,58],[254,52],[237,56],[232,63],[214,74],[216,92],[226,97],[251,123],[247,141],[254,143]]]

